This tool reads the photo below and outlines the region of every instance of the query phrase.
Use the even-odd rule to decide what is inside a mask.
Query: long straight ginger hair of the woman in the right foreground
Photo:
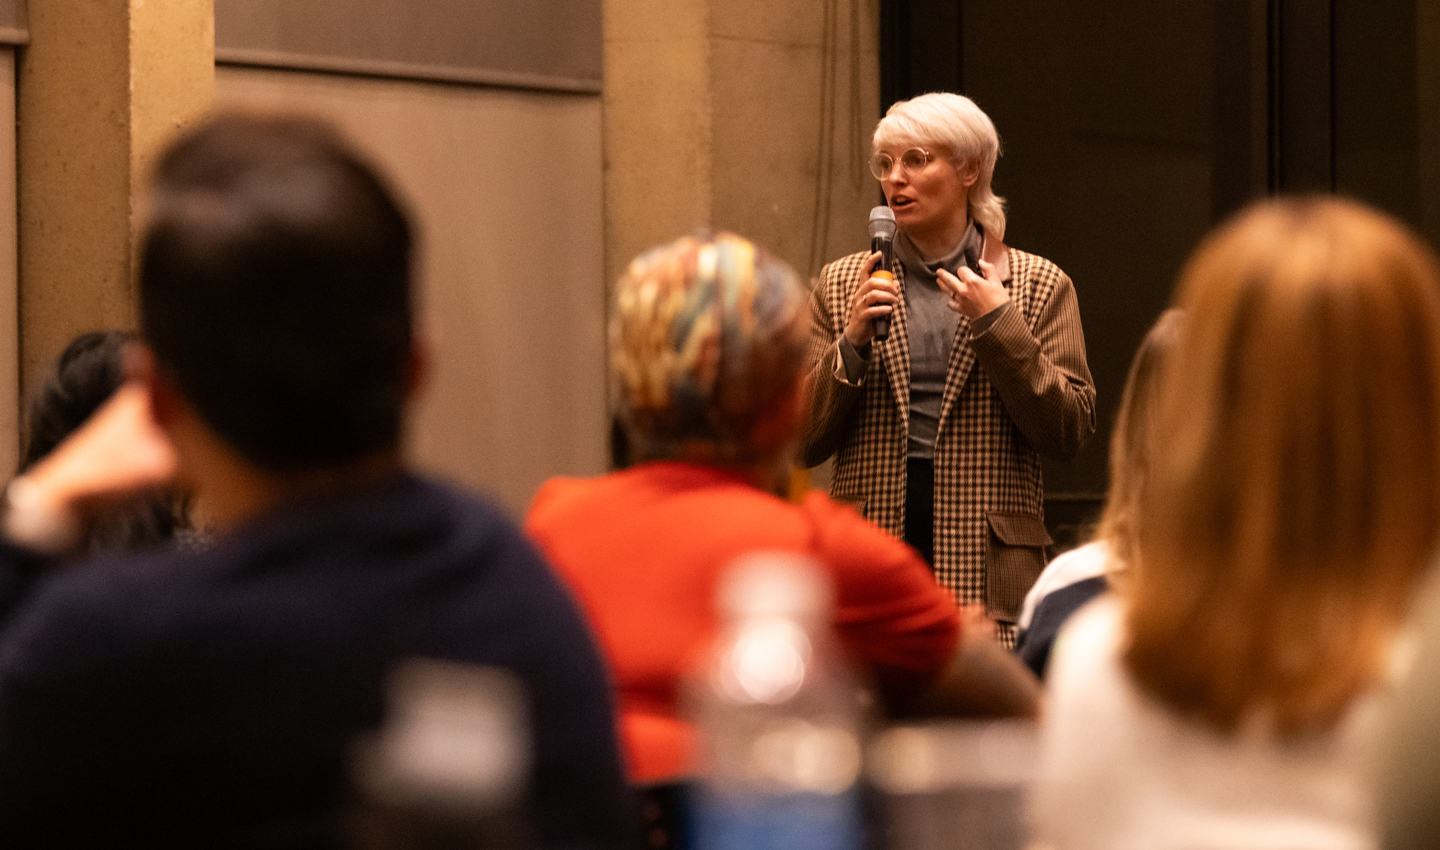
[[[1181,275],[1125,664],[1221,730],[1332,726],[1440,532],[1440,272],[1395,220],[1250,207]]]

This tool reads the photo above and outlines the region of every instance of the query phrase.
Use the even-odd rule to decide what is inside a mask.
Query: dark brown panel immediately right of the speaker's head
[[[1146,0],[1103,14],[1038,0],[965,9],[968,94],[1005,143],[1007,241],[1074,279],[1096,377],[1100,429],[1074,461],[1047,464],[1045,486],[1093,498],[1130,352],[1211,219],[1212,22],[1200,4]]]

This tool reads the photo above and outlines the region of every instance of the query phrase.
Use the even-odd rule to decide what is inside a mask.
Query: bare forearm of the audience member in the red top
[[[897,717],[1035,717],[1040,680],[995,640],[981,607],[962,608],[965,628],[949,666],[914,699],[891,706]]]

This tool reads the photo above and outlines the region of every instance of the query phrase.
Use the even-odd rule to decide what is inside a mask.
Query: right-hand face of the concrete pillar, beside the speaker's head
[[[711,7],[714,225],[752,236],[802,275],[870,245],[878,20],[878,0]]]

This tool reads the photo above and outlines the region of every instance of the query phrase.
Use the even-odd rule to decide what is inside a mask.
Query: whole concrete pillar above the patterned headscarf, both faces
[[[878,0],[605,0],[605,267],[700,226],[802,275],[868,245]]]

